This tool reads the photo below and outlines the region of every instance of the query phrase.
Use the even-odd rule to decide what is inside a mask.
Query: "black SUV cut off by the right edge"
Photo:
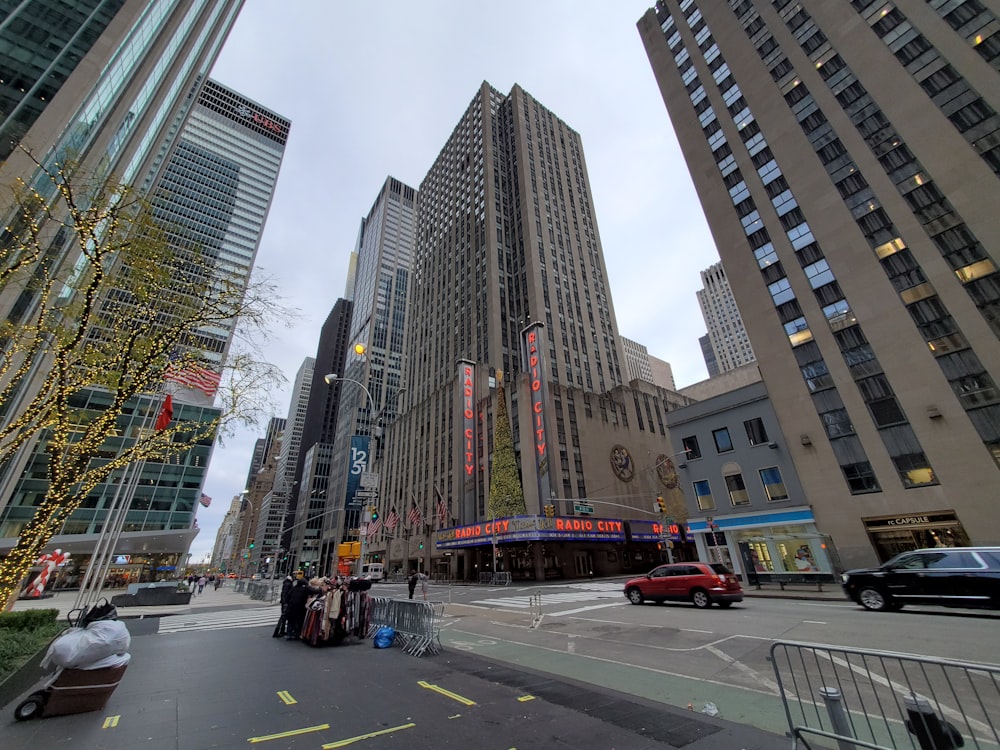
[[[918,549],[842,578],[848,597],[876,611],[911,603],[1000,609],[1000,547]]]

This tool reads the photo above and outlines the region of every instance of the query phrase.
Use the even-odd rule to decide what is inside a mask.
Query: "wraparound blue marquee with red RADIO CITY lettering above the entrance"
[[[494,541],[530,542],[550,540],[575,540],[592,542],[624,542],[625,522],[612,518],[543,518],[542,516],[515,516],[496,521],[474,523],[441,529],[435,533],[438,549],[475,547]]]

